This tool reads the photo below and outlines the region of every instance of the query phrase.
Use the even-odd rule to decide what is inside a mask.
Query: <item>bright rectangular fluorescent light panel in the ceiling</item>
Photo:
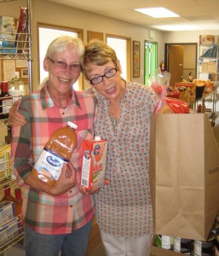
[[[169,9],[163,7],[158,8],[146,8],[146,9],[135,9],[135,11],[140,12],[141,14],[152,16],[153,18],[172,18],[179,17],[175,13],[171,12]]]

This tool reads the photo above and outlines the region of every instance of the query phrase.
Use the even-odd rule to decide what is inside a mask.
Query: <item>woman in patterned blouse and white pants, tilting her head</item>
[[[95,135],[108,140],[106,178],[95,194],[95,217],[107,255],[150,255],[153,209],[149,186],[150,120],[157,98],[127,82],[115,51],[101,41],[85,46],[82,67],[97,98]]]

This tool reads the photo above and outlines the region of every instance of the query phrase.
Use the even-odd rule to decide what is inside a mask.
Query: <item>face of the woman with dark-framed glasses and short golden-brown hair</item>
[[[86,64],[86,77],[89,80],[102,76],[115,67],[118,68],[118,71],[114,76],[111,78],[103,77],[100,84],[91,84],[94,86],[95,90],[101,93],[102,96],[107,97],[110,101],[120,100],[124,95],[125,83],[121,78],[121,67],[119,61],[117,61],[116,66],[113,61],[108,61],[102,66],[95,65],[92,62]]]

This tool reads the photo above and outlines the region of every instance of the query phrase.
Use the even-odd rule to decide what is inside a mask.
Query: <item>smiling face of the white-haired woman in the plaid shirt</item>
[[[80,63],[80,56],[75,50],[75,45],[68,44],[65,50],[54,52],[49,58],[45,57],[43,61],[44,70],[49,73],[49,93],[69,96],[72,92],[72,84],[78,80],[80,75],[80,71],[75,72],[69,66]],[[66,68],[57,67],[54,61],[65,61],[68,66]]]

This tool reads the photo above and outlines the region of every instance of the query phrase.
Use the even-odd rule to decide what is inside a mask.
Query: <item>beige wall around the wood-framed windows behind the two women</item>
[[[0,3],[0,15],[12,15],[19,18],[20,6],[26,6],[26,0]],[[135,26],[130,23],[114,20],[102,15],[85,12],[79,9],[69,8],[47,0],[32,0],[32,53],[33,53],[33,86],[38,85],[38,54],[37,54],[37,22],[49,23],[58,26],[71,26],[84,30],[84,43],[87,42],[87,32],[104,32],[104,35],[115,34],[130,37],[141,42],[141,77],[132,79],[143,83],[143,56],[144,40],[150,40],[149,29]],[[164,59],[163,32],[155,31],[153,41],[158,42],[158,61]]]

